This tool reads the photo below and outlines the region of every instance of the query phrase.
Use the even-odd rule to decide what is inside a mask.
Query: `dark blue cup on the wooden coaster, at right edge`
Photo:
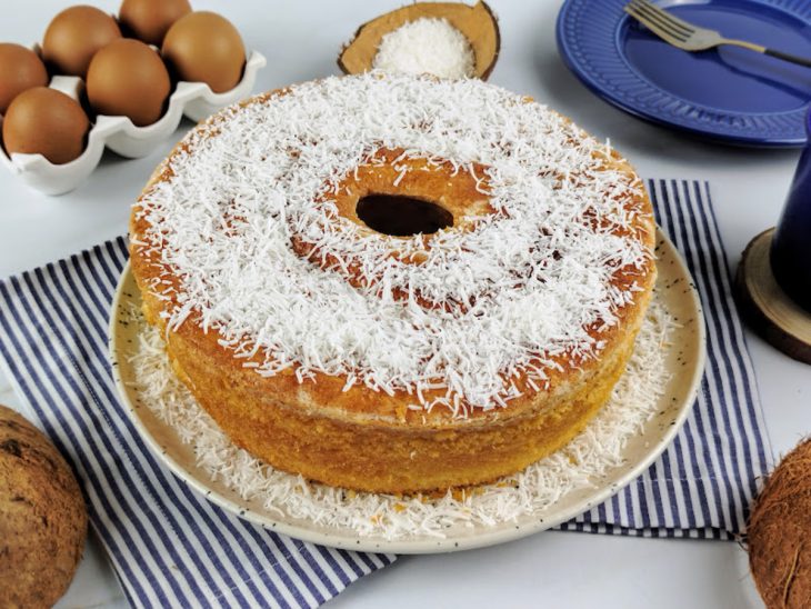
[[[808,142],[774,231],[771,263],[783,291],[811,312],[811,111],[805,116],[805,130]]]

